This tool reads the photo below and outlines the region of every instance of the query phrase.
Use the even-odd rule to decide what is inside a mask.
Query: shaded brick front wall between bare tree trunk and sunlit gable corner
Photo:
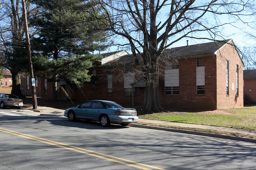
[[[165,108],[216,108],[216,60],[205,57],[205,95],[197,95],[196,58],[179,60],[179,95],[165,95],[160,86],[160,103]]]

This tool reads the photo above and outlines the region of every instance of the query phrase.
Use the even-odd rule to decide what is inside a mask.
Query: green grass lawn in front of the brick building
[[[256,106],[209,112],[161,112],[138,115],[138,117],[140,119],[256,130]]]

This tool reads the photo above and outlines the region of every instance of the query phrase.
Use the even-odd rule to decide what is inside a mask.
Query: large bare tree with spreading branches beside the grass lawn
[[[227,39],[221,29],[234,22],[245,23],[252,15],[253,0],[98,0],[109,30],[129,46],[141,76],[146,79],[145,111],[161,111],[158,98],[160,56],[183,38]],[[121,36],[121,37],[120,37]]]

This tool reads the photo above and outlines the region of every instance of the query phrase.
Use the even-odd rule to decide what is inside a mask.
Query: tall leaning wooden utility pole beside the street
[[[31,51],[30,51],[30,40],[29,40],[29,35],[28,35],[28,20],[27,20],[25,0],[22,0],[22,9],[23,9],[22,11],[23,11],[24,23],[25,23],[27,48],[28,48],[28,64],[29,64],[29,70],[30,70],[30,84],[32,87],[33,109],[37,109],[35,86],[32,85],[32,79],[34,78],[34,75],[33,75],[33,66],[32,66]]]

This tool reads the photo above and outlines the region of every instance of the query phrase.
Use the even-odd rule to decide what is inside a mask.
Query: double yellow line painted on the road
[[[31,140],[34,140],[34,141],[38,141],[38,142],[41,142],[41,143],[50,144],[50,145],[57,146],[57,147],[60,147],[60,148],[65,148],[67,150],[72,150],[72,151],[79,152],[79,153],[82,153],[82,154],[91,155],[91,156],[94,156],[94,157],[98,157],[100,159],[105,159],[105,160],[112,161],[112,162],[115,162],[115,163],[119,163],[119,164],[122,164],[122,165],[132,166],[134,168],[138,168],[138,169],[142,169],[142,170],[151,170],[149,168],[158,169],[158,170],[165,170],[163,168],[158,168],[156,166],[146,165],[146,164],[143,164],[143,163],[138,163],[138,162],[130,161],[130,160],[127,160],[127,159],[122,159],[122,158],[119,158],[119,157],[102,154],[102,153],[99,153],[99,152],[95,152],[95,151],[92,151],[92,150],[87,150],[87,149],[84,149],[84,148],[79,148],[79,147],[64,144],[64,143],[50,141],[48,139],[43,139],[43,138],[40,138],[40,137],[35,137],[35,136],[32,136],[32,135],[19,133],[19,132],[15,132],[15,131],[4,129],[4,128],[0,128],[0,131],[5,132],[5,133],[9,133],[9,134],[12,134],[12,135],[16,135],[16,136],[19,136],[19,137],[24,137],[24,138],[27,138],[27,139],[31,139]],[[140,165],[140,166],[138,166],[138,165]],[[148,167],[148,168],[145,168],[145,167]]]

